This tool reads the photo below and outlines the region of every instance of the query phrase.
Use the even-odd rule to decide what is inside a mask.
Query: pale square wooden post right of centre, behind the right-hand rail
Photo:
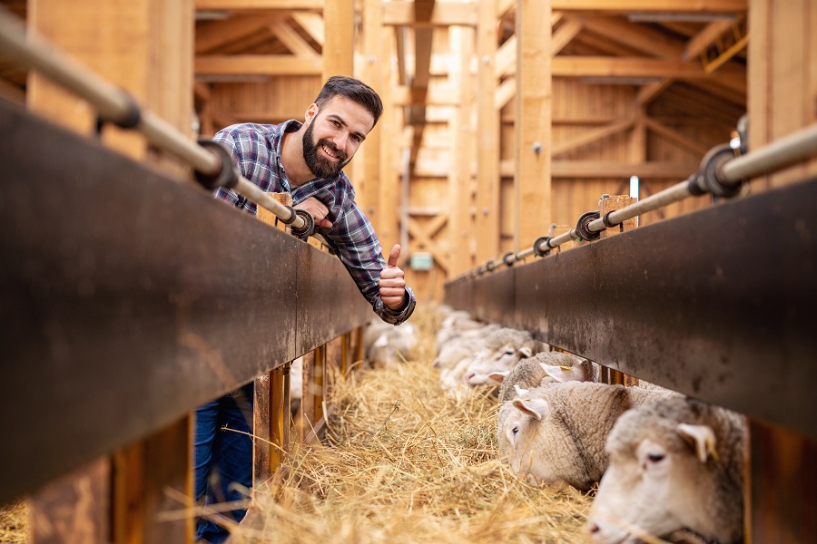
[[[517,251],[546,233],[551,223],[551,29],[543,23],[550,16],[550,0],[517,2]]]

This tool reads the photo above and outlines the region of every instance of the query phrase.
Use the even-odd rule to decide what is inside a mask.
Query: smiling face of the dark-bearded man
[[[318,110],[307,111],[303,133],[303,160],[318,178],[336,175],[354,157],[374,125],[366,108],[344,96],[335,96]]]

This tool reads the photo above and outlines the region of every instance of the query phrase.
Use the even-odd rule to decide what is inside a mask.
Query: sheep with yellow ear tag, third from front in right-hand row
[[[540,352],[519,361],[511,370],[489,374],[488,378],[499,384],[499,403],[510,401],[546,383],[596,381],[590,361],[556,351]]]

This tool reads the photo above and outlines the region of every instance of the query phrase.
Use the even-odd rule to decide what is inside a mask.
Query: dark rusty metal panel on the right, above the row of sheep
[[[626,374],[817,436],[814,202],[817,180],[807,180],[536,260],[511,270],[514,311],[494,316]],[[501,290],[477,287],[487,279],[449,289],[506,304]],[[459,297],[455,306],[478,307]]]

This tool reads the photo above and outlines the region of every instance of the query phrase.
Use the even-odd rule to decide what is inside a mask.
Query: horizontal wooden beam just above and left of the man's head
[[[204,54],[195,58],[196,74],[320,75],[320,58],[290,54]]]

